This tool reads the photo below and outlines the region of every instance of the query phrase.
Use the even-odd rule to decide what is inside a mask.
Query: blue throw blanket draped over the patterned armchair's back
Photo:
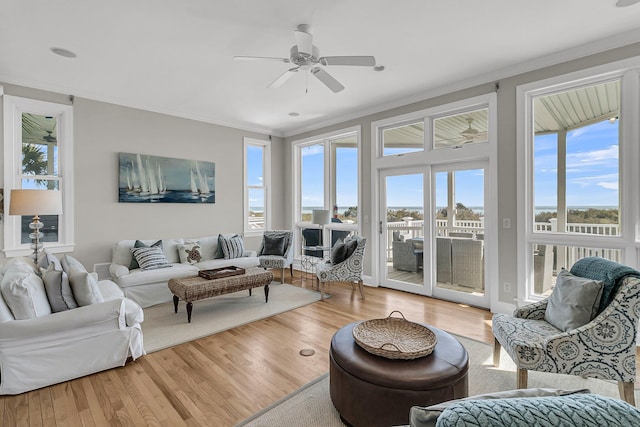
[[[627,276],[640,278],[640,271],[635,268],[600,257],[587,257],[576,261],[571,267],[571,274],[601,280],[604,283],[598,313],[601,313],[613,300],[622,285],[622,279]]]

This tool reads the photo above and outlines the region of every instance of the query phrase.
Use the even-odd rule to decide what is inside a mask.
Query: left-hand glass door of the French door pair
[[[380,174],[381,285],[422,295],[430,292],[424,280],[425,176],[424,168]]]

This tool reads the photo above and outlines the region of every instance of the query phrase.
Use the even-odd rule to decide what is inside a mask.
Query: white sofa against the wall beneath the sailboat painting
[[[224,234],[224,236],[230,237],[233,234]],[[140,268],[129,270],[133,257],[131,248],[134,247],[135,242],[136,240],[121,240],[113,247],[109,272],[113,281],[124,291],[124,295],[143,308],[172,300],[173,296],[167,285],[170,279],[195,276],[200,270],[231,265],[241,268],[260,265],[256,251],[245,251],[244,256],[240,258],[216,258],[219,256],[218,235],[213,235],[191,239],[162,239],[162,250],[171,267],[155,270]],[[157,240],[141,240],[141,242],[151,246]],[[202,261],[196,264],[180,263],[178,245],[186,242],[198,242]]]

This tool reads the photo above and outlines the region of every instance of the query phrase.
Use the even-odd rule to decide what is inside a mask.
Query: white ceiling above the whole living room
[[[640,41],[640,4],[615,1],[2,0],[0,81],[287,136]],[[303,73],[268,89],[290,64],[233,60],[288,57],[298,24],[321,56],[386,69],[325,67],[334,94]]]

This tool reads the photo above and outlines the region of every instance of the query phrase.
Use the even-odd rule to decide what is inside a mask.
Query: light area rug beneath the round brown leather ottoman
[[[500,367],[493,366],[493,347],[468,338],[456,336],[469,352],[469,395],[504,391],[516,388],[516,367],[502,351]],[[571,375],[529,372],[529,387],[583,389],[609,397],[619,397],[618,385],[613,381],[581,378]],[[636,401],[640,392],[636,390]],[[407,411],[408,420],[408,411]],[[237,427],[343,427],[329,396],[329,374],[280,399],[271,406],[247,418]]]

